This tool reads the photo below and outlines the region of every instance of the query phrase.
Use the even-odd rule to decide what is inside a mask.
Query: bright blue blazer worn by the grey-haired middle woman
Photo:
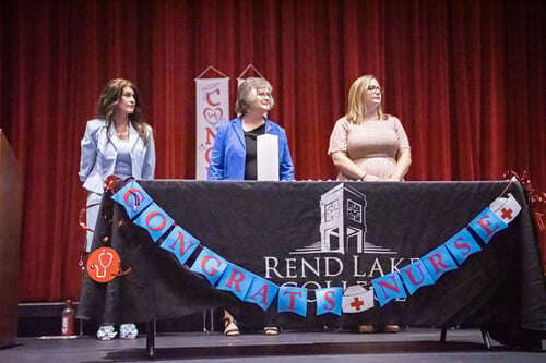
[[[283,128],[265,120],[265,133],[278,136],[278,179],[294,180],[288,141]],[[240,118],[219,125],[211,152],[209,180],[244,180],[247,146]]]

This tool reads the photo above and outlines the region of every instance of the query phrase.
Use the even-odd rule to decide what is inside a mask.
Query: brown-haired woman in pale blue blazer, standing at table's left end
[[[108,176],[121,179],[153,179],[155,147],[152,128],[141,118],[139,93],[133,83],[116,78],[108,82],[99,96],[96,119],[87,121],[82,143],[80,180],[87,190],[87,226],[94,229],[103,183]],[[87,231],[85,250],[91,252],[93,232]],[[134,324],[122,324],[122,339],[135,339]],[[97,331],[100,340],[110,340],[117,332],[112,325]]]

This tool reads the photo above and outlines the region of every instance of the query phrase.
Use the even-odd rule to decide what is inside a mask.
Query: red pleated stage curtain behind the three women
[[[331,179],[330,132],[375,74],[412,144],[410,180],[546,189],[545,2],[3,1],[0,128],[24,171],[22,301],[78,298],[80,140],[103,85],[127,77],[154,126],[157,178],[194,177],[194,82],[252,63],[275,87],[298,179]],[[232,99],[232,104],[234,99]],[[14,256],[16,258],[16,256]]]

